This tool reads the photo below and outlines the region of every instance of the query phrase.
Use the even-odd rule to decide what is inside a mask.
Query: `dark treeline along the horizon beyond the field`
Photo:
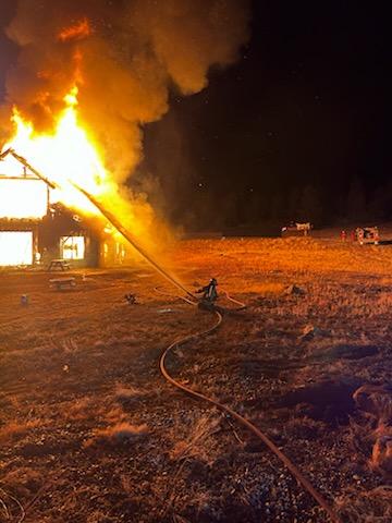
[[[376,190],[354,179],[345,190],[307,184],[273,193],[195,191],[188,205],[176,208],[174,221],[188,230],[212,230],[292,220],[311,221],[316,227],[390,221],[392,181]]]

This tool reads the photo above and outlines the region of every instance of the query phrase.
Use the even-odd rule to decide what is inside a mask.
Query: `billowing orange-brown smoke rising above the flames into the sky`
[[[7,104],[48,131],[76,84],[81,121],[121,183],[169,89],[203,89],[210,66],[235,61],[247,22],[247,0],[19,0]]]

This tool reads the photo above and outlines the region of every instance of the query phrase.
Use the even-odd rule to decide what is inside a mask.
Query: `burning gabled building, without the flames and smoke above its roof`
[[[53,203],[56,186],[12,149],[0,156],[0,267],[46,264],[117,265],[123,242],[108,227]]]

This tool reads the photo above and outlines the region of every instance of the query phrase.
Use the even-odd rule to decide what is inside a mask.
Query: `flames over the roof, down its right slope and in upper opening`
[[[143,236],[144,244],[150,244],[150,208],[131,202],[120,190],[105,166],[105,155],[99,145],[81,122],[77,95],[78,88],[75,85],[64,96],[64,108],[59,113],[54,132],[51,134],[37,134],[33,123],[25,120],[17,108],[14,108],[11,118],[14,135],[3,150],[15,150],[57,186],[56,190],[50,190],[50,203],[61,202],[77,212],[101,217],[101,211],[76,188],[81,186],[106,208],[111,209],[125,227],[132,228],[135,235]],[[4,198],[0,197],[0,217],[39,219],[44,216],[47,187],[44,182],[34,183],[32,180],[29,191],[26,191],[27,183],[20,181],[25,174],[21,173],[21,165],[12,157],[7,157],[0,163],[0,196],[8,195],[4,205]],[[19,179],[16,185],[14,178]],[[33,200],[36,205],[33,205]],[[121,236],[117,233],[113,235]],[[154,247],[152,244],[150,246]]]

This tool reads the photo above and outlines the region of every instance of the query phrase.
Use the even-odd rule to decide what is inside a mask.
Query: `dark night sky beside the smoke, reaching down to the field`
[[[1,24],[12,14],[1,2]],[[176,224],[392,218],[383,2],[253,2],[238,61],[145,130],[132,185]],[[15,49],[0,36],[0,96]]]

